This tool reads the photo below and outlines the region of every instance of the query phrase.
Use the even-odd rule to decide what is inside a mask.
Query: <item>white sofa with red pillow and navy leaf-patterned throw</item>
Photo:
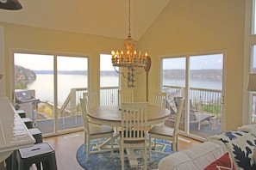
[[[159,170],[256,170],[256,124],[225,131],[159,161]]]

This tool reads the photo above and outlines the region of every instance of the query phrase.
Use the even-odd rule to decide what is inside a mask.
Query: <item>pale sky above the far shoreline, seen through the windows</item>
[[[36,59],[34,59],[36,58]],[[194,56],[190,58],[190,69],[222,69],[223,55]],[[15,54],[15,64],[22,65],[30,70],[53,70],[53,55],[38,54]],[[68,58],[62,56],[58,58],[58,70],[88,70],[88,58]],[[185,58],[165,58],[163,60],[165,69],[185,69]],[[101,70],[114,70],[111,63],[111,55],[101,54]]]

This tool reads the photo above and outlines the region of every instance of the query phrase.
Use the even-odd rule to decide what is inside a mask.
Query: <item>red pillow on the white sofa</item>
[[[222,155],[217,160],[211,162],[209,166],[205,167],[204,170],[236,170],[234,162],[228,155],[228,152]]]

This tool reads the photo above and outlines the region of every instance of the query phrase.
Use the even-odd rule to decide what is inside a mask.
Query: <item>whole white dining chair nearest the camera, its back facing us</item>
[[[124,159],[144,158],[145,169],[147,169],[147,102],[122,103],[122,130],[120,131],[120,154],[122,170],[124,170]],[[124,154],[124,149],[134,151],[141,149],[138,155]],[[142,151],[144,149],[144,151]]]

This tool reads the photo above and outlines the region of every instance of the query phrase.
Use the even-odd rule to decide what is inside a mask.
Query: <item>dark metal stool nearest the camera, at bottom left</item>
[[[32,147],[18,149],[18,170],[29,170],[32,164],[41,162],[43,169],[57,170],[55,151],[48,143],[36,143]],[[41,169],[41,166],[39,169]]]

